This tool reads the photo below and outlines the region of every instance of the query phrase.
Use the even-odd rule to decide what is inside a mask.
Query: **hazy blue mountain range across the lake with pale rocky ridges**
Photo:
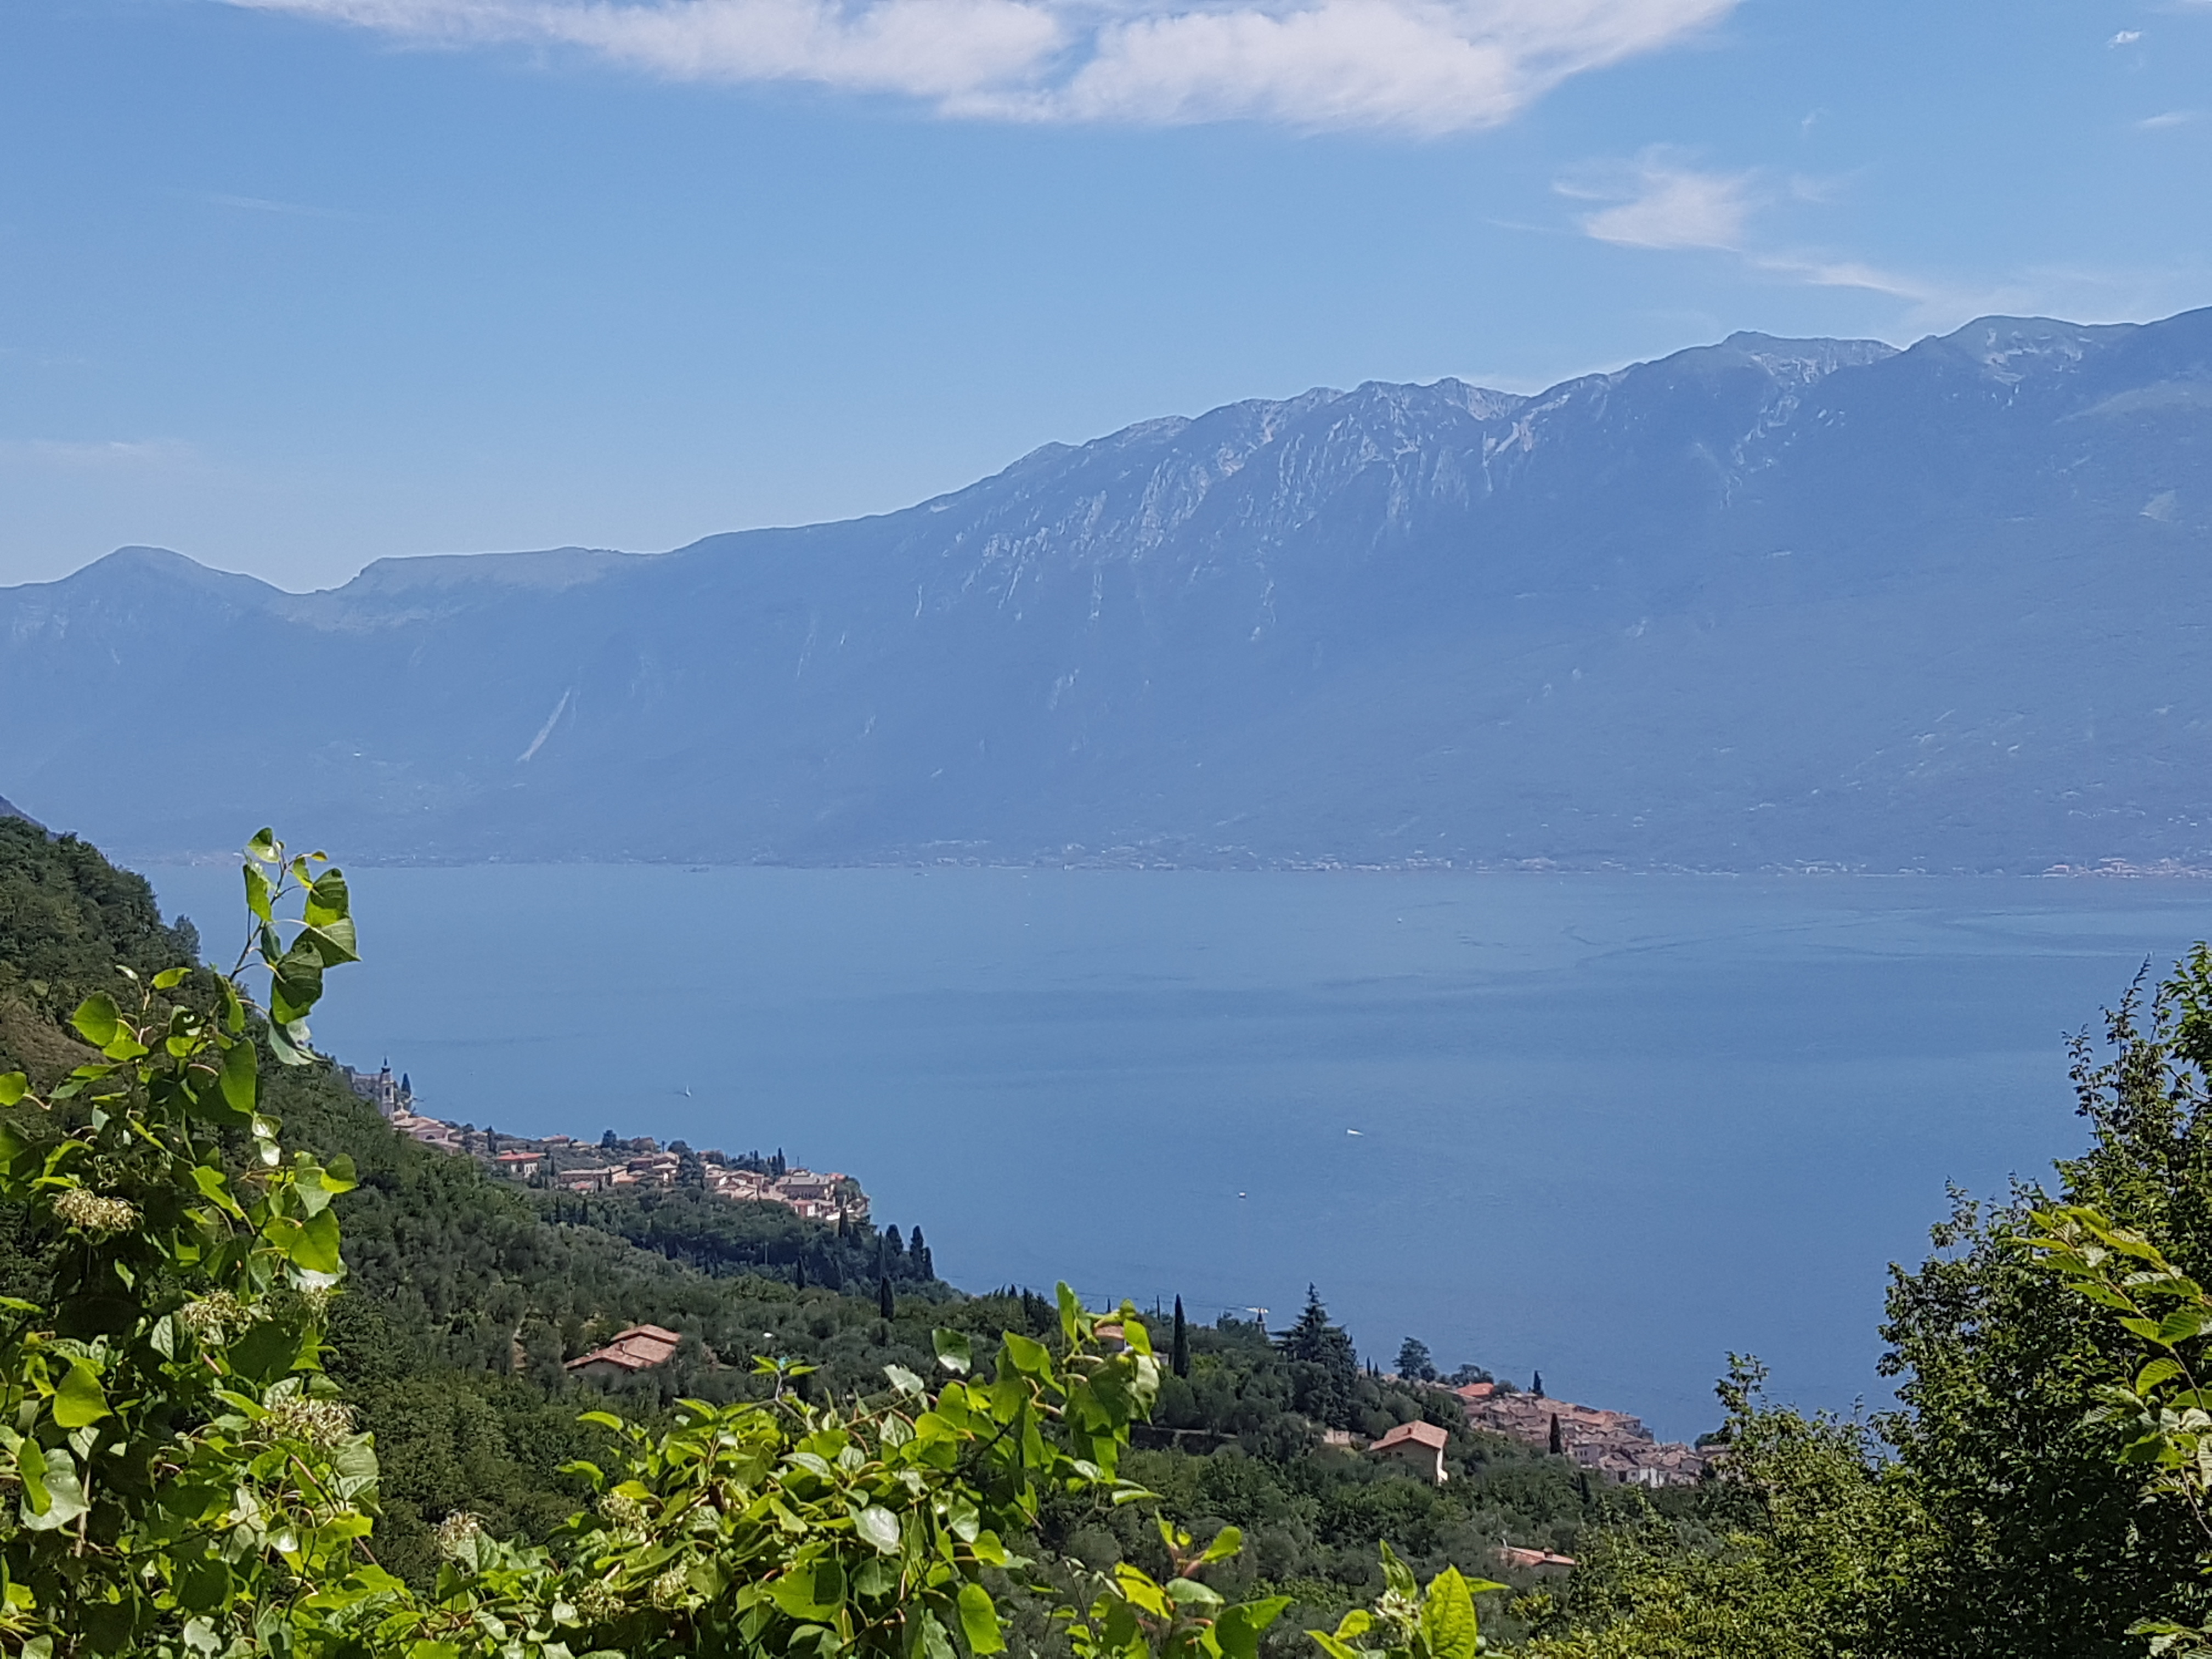
[[[2212,865],[2212,310],[1316,389],[918,507],[0,588],[139,856]]]

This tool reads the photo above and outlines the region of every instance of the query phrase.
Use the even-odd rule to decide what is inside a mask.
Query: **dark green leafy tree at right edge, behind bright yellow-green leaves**
[[[2185,1509],[2143,1504],[2148,1471],[2112,1460],[2126,1436],[2086,1422],[2128,1334],[2013,1245],[2031,1210],[2086,1203],[2212,1279],[2212,953],[2199,945],[2148,995],[2137,982],[2101,1035],[2073,1042],[2093,1139],[2057,1166],[2057,1194],[1953,1194],[1938,1254],[1889,1290],[1885,1369],[1905,1409],[1882,1433],[1933,1533],[1893,1617],[1927,1659],[2132,1659],[2135,1619],[2212,1617]]]

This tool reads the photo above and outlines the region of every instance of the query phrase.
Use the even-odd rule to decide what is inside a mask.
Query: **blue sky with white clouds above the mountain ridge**
[[[0,582],[883,511],[1310,385],[2212,303],[2205,0],[7,0]]]

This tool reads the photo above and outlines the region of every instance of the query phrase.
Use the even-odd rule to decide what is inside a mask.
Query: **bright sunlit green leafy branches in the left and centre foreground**
[[[42,1301],[0,1303],[13,1650],[995,1655],[998,1595],[1040,1568],[1009,1540],[1037,1531],[1044,1498],[1150,1500],[1119,1475],[1161,1380],[1146,1327],[1062,1287],[1055,1340],[1006,1332],[978,1363],[942,1332],[936,1391],[894,1365],[874,1396],[818,1405],[807,1367],[763,1360],[765,1400],[681,1400],[653,1429],[595,1413],[615,1451],[571,1469],[595,1502],[551,1542],[502,1542],[456,1513],[431,1590],[376,1564],[376,1453],[323,1371],[345,1276],[334,1199],[354,1170],[285,1159],[261,1110],[261,1048],[310,1064],[323,975],[356,960],[345,878],[321,863],[259,836],[232,973],[133,973],[128,1006],[102,991],[71,1015],[95,1060],[44,1091],[0,1077],[0,1197],[49,1263]],[[1082,1608],[1062,1604],[1071,1646],[1254,1659],[1287,1597],[1232,1604],[1199,1582],[1237,1553],[1234,1528],[1161,1537],[1170,1579],[1121,1562]],[[1440,1575],[1416,1601],[1389,1566],[1383,1613],[1327,1639],[1336,1659],[1473,1659],[1464,1579]],[[1391,1639],[1354,1648],[1369,1628]]]

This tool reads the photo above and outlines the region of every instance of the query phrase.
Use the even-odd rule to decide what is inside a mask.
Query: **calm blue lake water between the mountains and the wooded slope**
[[[155,869],[237,936],[237,876]],[[478,867],[354,872],[316,1022],[513,1133],[781,1146],[987,1287],[1307,1281],[1416,1334],[1712,1427],[1730,1349],[1880,1400],[1885,1267],[1944,1181],[2081,1126],[2064,1035],[2212,933],[2121,880]]]

